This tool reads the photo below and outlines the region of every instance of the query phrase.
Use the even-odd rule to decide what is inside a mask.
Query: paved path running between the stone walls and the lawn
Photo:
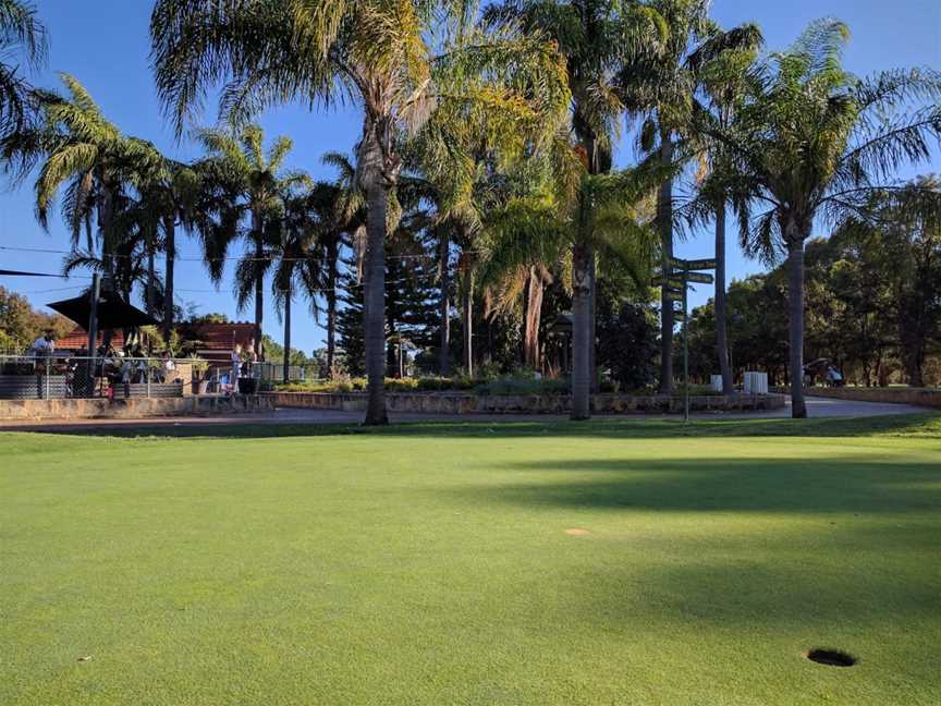
[[[808,398],[808,414],[811,417],[867,417],[882,414],[916,414],[929,412],[926,407],[909,404],[887,404],[876,402],[855,402],[848,400],[831,400],[826,398]],[[673,417],[676,415],[637,415],[633,418]],[[790,417],[791,405],[783,410],[769,412],[741,412],[733,414],[696,414],[696,418],[778,418]],[[403,422],[549,422],[562,421],[562,415],[525,415],[525,414],[392,414],[393,423]],[[626,415],[604,418],[632,418]],[[271,424],[359,424],[362,412],[334,412],[328,410],[278,409],[260,414],[233,414],[216,417],[154,417],[147,419],[69,419],[41,421],[29,419],[0,421],[0,431],[75,431],[89,428],[162,428],[173,426],[219,426],[219,425],[271,425]]]

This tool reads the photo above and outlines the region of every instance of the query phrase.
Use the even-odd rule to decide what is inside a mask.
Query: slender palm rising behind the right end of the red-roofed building
[[[249,252],[235,268],[235,300],[241,311],[254,296],[255,353],[260,361],[265,353],[261,343],[265,277],[271,267],[272,251],[280,244],[283,197],[294,188],[309,185],[310,178],[303,172],[283,171],[292,141],[278,137],[266,151],[265,135],[258,125],[245,125],[237,132],[204,129],[196,132],[196,137],[209,153],[198,166],[200,175],[210,191],[221,190],[228,195],[221,199],[220,218],[220,223],[224,221],[228,227],[216,231],[215,256],[224,259],[229,245],[240,236],[249,245]],[[218,281],[222,270],[210,269],[210,273]]]

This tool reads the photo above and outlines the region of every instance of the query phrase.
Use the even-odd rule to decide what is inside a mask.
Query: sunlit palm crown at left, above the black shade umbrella
[[[155,168],[161,158],[150,143],[123,135],[77,78],[64,73],[60,77],[66,95],[37,90],[39,119],[9,135],[2,155],[19,163],[20,180],[38,165],[34,190],[39,223],[48,228],[49,211],[61,192],[73,247],[84,231],[87,254],[97,244],[105,272],[112,275],[113,252],[123,238],[115,228],[119,204],[134,174]]]

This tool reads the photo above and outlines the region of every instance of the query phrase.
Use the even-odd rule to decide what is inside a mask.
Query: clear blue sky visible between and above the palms
[[[161,119],[148,64],[147,24],[151,3],[145,0],[36,0],[39,13],[50,33],[49,70],[34,78],[44,86],[57,86],[54,72],[72,73],[82,81],[103,109],[106,115],[126,134],[152,141],[160,149],[178,158],[196,156],[193,146],[178,144],[171,127]],[[845,53],[846,65],[857,74],[879,69],[931,65],[941,68],[941,2],[938,0],[716,0],[713,17],[723,26],[757,22],[770,49],[791,44],[807,23],[830,15],[850,25],[852,39]],[[207,123],[215,119],[210,109]],[[298,107],[271,110],[260,120],[268,135],[289,135],[294,139],[290,166],[305,169],[315,176],[331,178],[320,165],[327,150],[350,151],[359,132],[355,107],[340,107],[330,113],[310,113]],[[618,150],[616,161],[630,165],[635,155],[628,145]],[[919,171],[941,172],[941,156]],[[911,175],[909,172],[904,175]],[[0,246],[68,248],[69,238],[58,217],[50,233],[45,233],[33,217],[32,191],[0,193]],[[731,233],[730,233],[731,235]],[[730,241],[733,239],[730,238]],[[178,293],[181,300],[198,304],[201,313],[223,312],[231,318],[249,319],[252,312],[235,311],[230,278],[219,291],[213,290],[197,261],[194,243],[184,241],[182,261],[178,264]],[[704,232],[679,245],[681,257],[710,256],[711,233]],[[62,256],[51,253],[0,251],[0,267],[58,272]],[[746,260],[730,247],[730,273],[744,277],[759,271],[757,263]],[[0,284],[22,292],[37,306],[75,295],[85,280],[40,280],[2,278]],[[54,290],[54,291],[49,291]],[[694,300],[698,304],[711,294],[701,289]],[[300,307],[298,307],[300,309]],[[281,338],[281,326],[269,306],[265,330]],[[313,317],[297,311],[294,316],[293,343],[310,351],[321,345],[322,330]]]

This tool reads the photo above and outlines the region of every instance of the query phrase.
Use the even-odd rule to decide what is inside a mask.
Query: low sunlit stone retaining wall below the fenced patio
[[[143,419],[155,416],[212,416],[272,410],[273,400],[260,394],[188,398],[93,400],[0,400],[0,419]]]

